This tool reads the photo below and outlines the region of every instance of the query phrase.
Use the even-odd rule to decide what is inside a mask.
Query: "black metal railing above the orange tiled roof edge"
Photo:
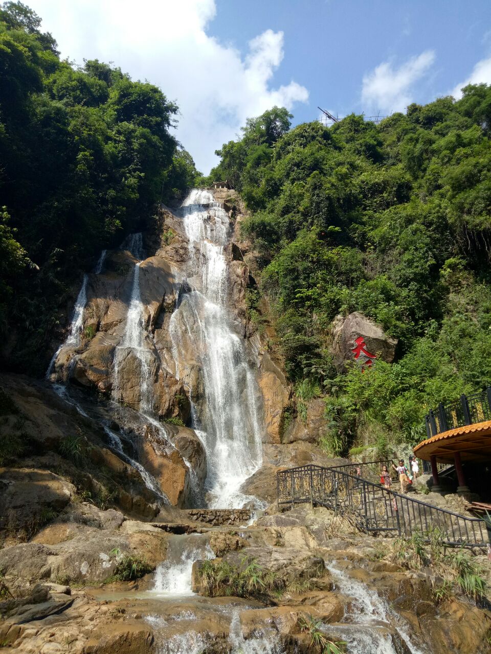
[[[458,400],[440,404],[425,416],[427,438],[448,432],[450,429],[464,427],[491,420],[491,387],[482,393],[461,395]]]

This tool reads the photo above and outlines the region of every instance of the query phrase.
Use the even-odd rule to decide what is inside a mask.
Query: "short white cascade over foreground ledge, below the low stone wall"
[[[215,554],[201,534],[172,536],[166,560],[155,571],[154,593],[159,595],[191,595],[192,564],[197,560],[214,559]]]

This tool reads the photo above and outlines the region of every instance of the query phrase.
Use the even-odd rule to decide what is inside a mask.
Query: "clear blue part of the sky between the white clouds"
[[[316,118],[317,105],[340,115],[390,111],[361,100],[363,75],[384,61],[397,68],[433,51],[433,65],[411,94],[426,103],[453,90],[477,61],[491,56],[490,0],[217,0],[209,31],[245,54],[247,42],[265,27],[284,33],[275,83],[293,78],[309,92],[308,103],[295,107],[295,122]]]

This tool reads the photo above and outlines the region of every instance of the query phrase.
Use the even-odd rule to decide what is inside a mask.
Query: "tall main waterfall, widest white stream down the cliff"
[[[227,213],[208,191],[194,189],[182,207],[189,240],[187,284],[170,321],[176,377],[184,376],[184,343],[189,337],[200,360],[204,404],[193,407],[194,424],[206,451],[206,490],[212,508],[240,508],[253,498],[240,486],[262,462],[255,379],[244,344],[227,311]]]

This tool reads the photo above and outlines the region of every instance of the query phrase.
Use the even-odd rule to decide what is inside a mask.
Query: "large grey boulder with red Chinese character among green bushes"
[[[380,325],[355,311],[349,316],[336,316],[333,320],[331,353],[339,370],[348,361],[363,367],[376,364],[377,359],[391,363],[397,339],[384,334]]]

